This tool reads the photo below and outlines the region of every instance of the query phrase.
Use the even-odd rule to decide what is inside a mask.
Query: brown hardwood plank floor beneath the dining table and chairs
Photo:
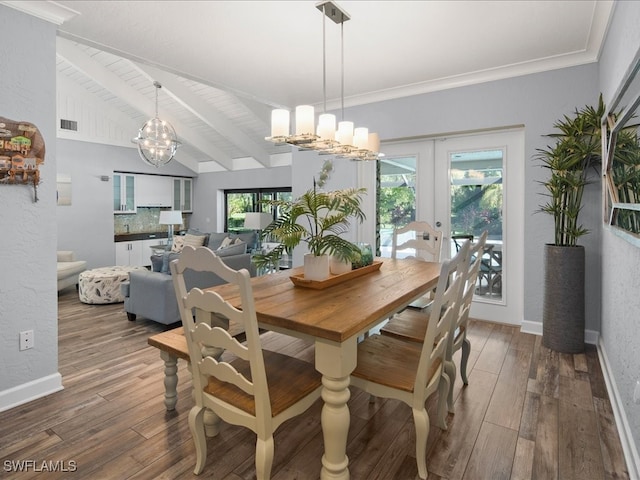
[[[180,361],[178,405],[167,412],[164,364],[147,345],[164,329],[127,321],[122,304],[84,305],[73,289],[64,291],[59,371],[65,388],[0,413],[0,478],[254,478],[255,436],[228,425],[209,439],[205,472],[193,475],[189,373]],[[472,322],[469,338],[469,386],[462,388],[458,376],[448,430],[430,431],[430,479],[628,478],[595,347],[558,354],[539,337],[480,321]],[[289,337],[266,333],[264,346],[313,359],[312,346]],[[428,405],[435,412],[435,399]],[[349,407],[351,478],[418,478],[410,409],[390,400],[370,403],[356,389]],[[278,430],[274,480],[319,478],[320,410],[319,401]],[[27,470],[17,472],[18,466]]]

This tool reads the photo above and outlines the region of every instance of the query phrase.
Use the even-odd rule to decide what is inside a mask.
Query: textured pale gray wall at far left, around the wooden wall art
[[[35,124],[46,147],[39,201],[0,185],[0,410],[62,388],[56,280],[56,27],[0,5],[0,115]],[[11,67],[9,67],[11,65]],[[35,347],[20,352],[19,332]]]

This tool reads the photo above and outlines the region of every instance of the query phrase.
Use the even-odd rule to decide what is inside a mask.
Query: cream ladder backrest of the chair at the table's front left
[[[237,285],[241,305],[231,305],[212,291],[192,288],[187,292],[184,280],[186,269],[213,272],[229,284]],[[203,390],[209,377],[214,377],[222,383],[233,384],[254,397],[255,417],[259,423],[270,420],[271,402],[249,272],[246,269],[229,268],[209,248],[185,246],[180,257],[171,262],[171,274],[189,348],[196,404],[203,405]],[[238,342],[224,328],[212,327],[212,315],[243,326],[246,345]],[[249,362],[250,378],[230,363],[212,355],[222,350]],[[211,392],[208,394],[212,395]]]

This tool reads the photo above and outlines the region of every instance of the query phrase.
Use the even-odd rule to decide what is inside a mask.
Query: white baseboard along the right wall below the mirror
[[[624,459],[627,463],[627,470],[629,470],[629,478],[631,480],[638,480],[640,479],[640,457],[638,456],[638,449],[633,440],[627,415],[624,412],[624,406],[620,398],[620,393],[618,392],[618,387],[616,386],[616,380],[611,374],[611,366],[609,365],[604,343],[601,341],[598,342],[598,358],[600,359],[600,365],[602,367],[604,383],[607,386],[607,392],[611,400],[611,409],[613,410],[613,416],[616,420],[618,435],[620,435],[620,443],[622,443]]]

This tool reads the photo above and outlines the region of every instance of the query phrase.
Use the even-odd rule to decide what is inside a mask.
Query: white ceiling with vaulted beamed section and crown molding
[[[274,107],[322,109],[400,98],[598,60],[612,1],[0,2],[66,9],[58,74],[136,125],[175,127],[176,159],[195,171],[269,167],[286,147],[264,140]],[[343,41],[341,40],[343,35]],[[324,47],[324,55],[323,55]],[[131,132],[131,137],[135,136]]]

